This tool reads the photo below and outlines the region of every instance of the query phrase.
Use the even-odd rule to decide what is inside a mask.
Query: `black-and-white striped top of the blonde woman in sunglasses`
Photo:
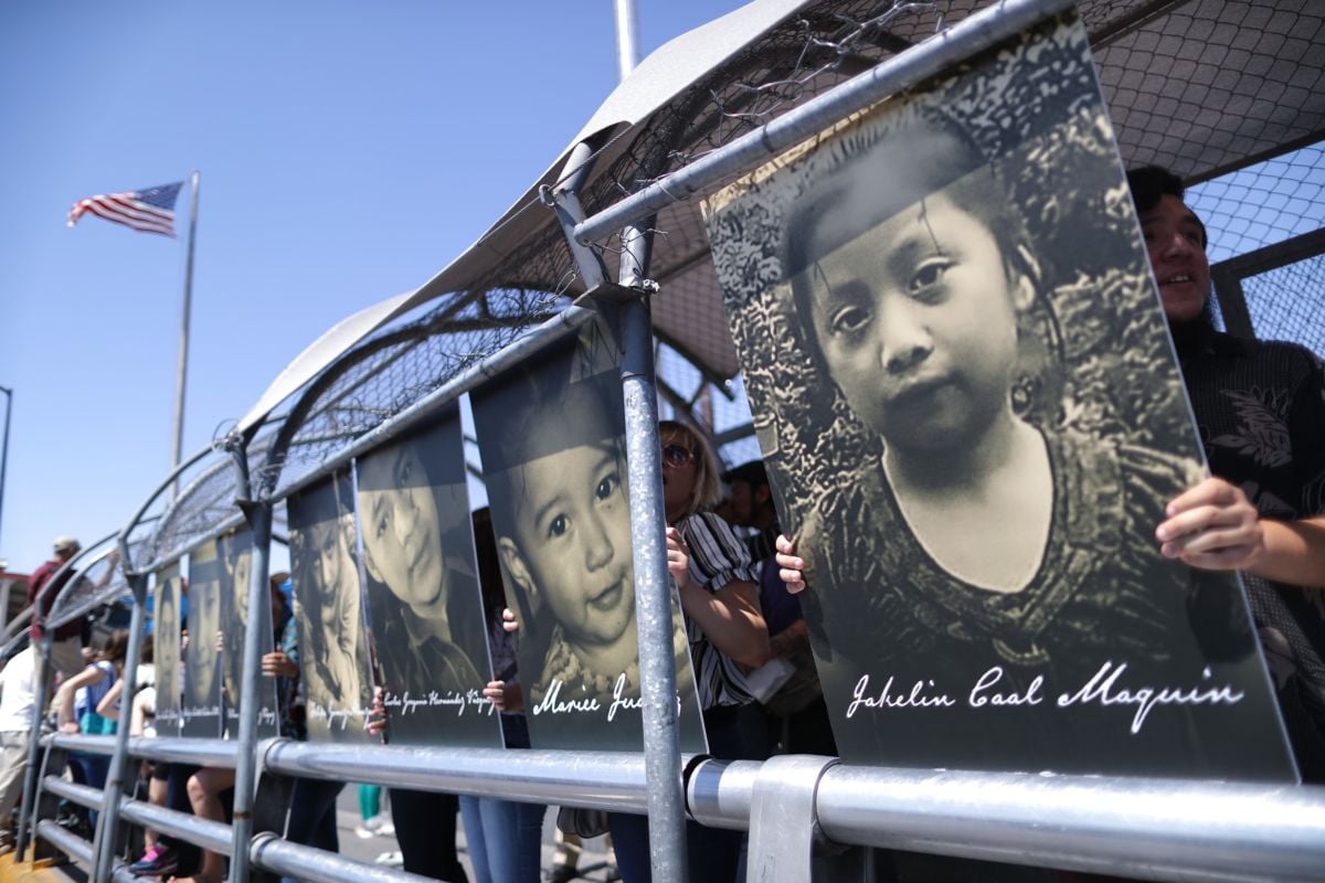
[[[690,579],[709,592],[717,592],[733,580],[759,585],[759,569],[750,559],[746,544],[731,532],[727,523],[713,512],[689,515],[676,524],[690,548]],[[753,699],[745,673],[726,654],[709,643],[689,617],[685,618],[690,639],[690,662],[700,692],[700,707],[741,706]]]

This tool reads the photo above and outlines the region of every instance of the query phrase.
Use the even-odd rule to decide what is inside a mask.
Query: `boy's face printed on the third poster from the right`
[[[360,487],[383,488],[359,491],[368,571],[416,616],[437,618],[447,586],[428,473],[409,445],[368,457],[359,469]]]

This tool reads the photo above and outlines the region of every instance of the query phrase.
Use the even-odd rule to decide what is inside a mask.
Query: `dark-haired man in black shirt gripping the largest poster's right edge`
[[[1141,229],[1215,478],[1155,537],[1192,567],[1242,571],[1304,778],[1325,780],[1325,376],[1308,349],[1215,331],[1206,228],[1182,181],[1129,172]]]

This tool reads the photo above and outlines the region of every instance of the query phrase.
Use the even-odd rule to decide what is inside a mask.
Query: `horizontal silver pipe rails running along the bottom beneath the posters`
[[[54,736],[49,741],[95,753],[114,749],[109,737]],[[135,756],[216,767],[232,767],[237,751],[235,743],[192,739],[132,739],[129,748]],[[640,813],[648,802],[640,753],[272,740],[260,757],[264,772],[281,776],[607,812]],[[102,794],[86,786],[50,777],[42,786],[85,806],[102,802]],[[798,800],[798,794],[808,800]],[[686,804],[705,825],[750,830],[751,866],[774,870],[768,879],[778,880],[808,879],[794,874],[795,868],[808,870],[816,849],[827,851],[824,847],[835,845],[1154,880],[1325,878],[1325,788],[1318,786],[886,769],[783,756],[765,763],[700,760],[686,777]],[[761,814],[761,805],[778,812],[774,817]],[[129,798],[122,798],[121,808],[134,823],[220,853],[233,849],[232,829],[219,822]],[[788,809],[794,812],[788,814]],[[45,830],[38,833],[45,835]],[[774,846],[757,850],[761,835]],[[280,862],[258,859],[258,843],[264,843],[264,855],[280,855]],[[277,845],[270,833],[253,839],[250,858],[282,874],[307,859],[319,868],[318,879],[363,879],[352,876],[362,872],[362,863]],[[375,879],[417,879],[376,870],[380,876]]]

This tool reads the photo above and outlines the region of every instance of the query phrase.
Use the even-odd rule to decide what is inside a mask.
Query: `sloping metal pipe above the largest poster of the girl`
[[[746,172],[762,160],[818,135],[851,114],[1019,34],[1036,21],[1067,9],[1072,1],[1002,0],[990,5],[902,54],[893,56],[841,86],[787,111],[766,126],[742,135],[723,150],[714,151],[603,209],[575,226],[575,240],[583,244],[606,241],[623,226],[640,224],[672,203],[701,193],[731,175]]]

